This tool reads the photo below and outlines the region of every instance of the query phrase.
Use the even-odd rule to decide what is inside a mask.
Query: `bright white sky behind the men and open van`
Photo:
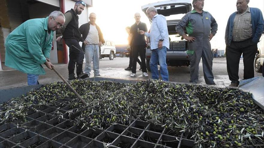
[[[116,45],[127,44],[128,34],[126,26],[135,23],[134,14],[141,14],[141,22],[150,28],[149,19],[141,10],[141,6],[163,0],[93,0],[93,7],[89,13],[96,13],[96,24],[101,28],[105,39],[112,40]],[[264,0],[250,0],[249,7],[257,7],[264,12]],[[216,19],[218,31],[211,40],[211,48],[225,49],[224,35],[227,20],[231,13],[236,11],[236,0],[205,0],[205,11],[208,11]],[[173,19],[181,19],[182,14],[173,16]]]

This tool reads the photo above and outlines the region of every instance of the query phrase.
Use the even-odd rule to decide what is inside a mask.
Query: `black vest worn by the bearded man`
[[[80,41],[81,33],[79,32],[79,17],[73,9],[67,12],[71,13],[72,19],[63,32],[63,38],[76,39],[77,41]]]

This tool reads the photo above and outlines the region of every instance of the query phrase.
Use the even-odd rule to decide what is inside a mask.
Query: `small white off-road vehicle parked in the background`
[[[101,58],[104,57],[109,57],[110,60],[116,57],[116,46],[113,41],[104,40],[104,43],[101,45]]]

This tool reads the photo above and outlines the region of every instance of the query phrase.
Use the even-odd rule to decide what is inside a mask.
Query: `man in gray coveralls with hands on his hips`
[[[198,83],[199,63],[202,57],[202,68],[205,83],[216,85],[212,72],[213,54],[210,40],[216,34],[217,23],[207,11],[203,11],[204,0],[193,0],[193,10],[187,13],[176,25],[176,31],[188,41],[190,60],[190,83]],[[187,36],[184,33],[186,27]]]

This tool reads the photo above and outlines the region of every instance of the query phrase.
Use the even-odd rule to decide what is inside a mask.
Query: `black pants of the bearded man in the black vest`
[[[84,52],[76,39],[64,39],[69,49],[69,74],[74,74],[74,68],[76,65],[77,76],[82,73],[82,64],[84,59]]]

